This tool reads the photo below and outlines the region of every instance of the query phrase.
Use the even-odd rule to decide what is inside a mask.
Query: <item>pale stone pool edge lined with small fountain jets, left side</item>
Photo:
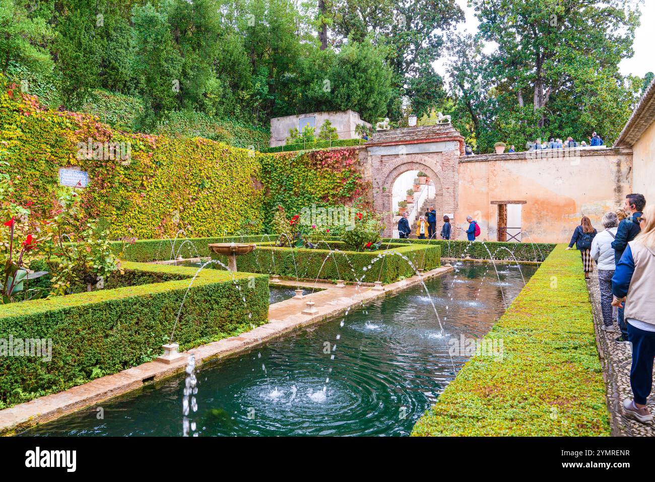
[[[349,285],[338,288],[327,283],[282,280],[280,283],[276,283],[276,286],[316,287],[322,289],[322,291],[305,295],[303,299],[291,298],[280,301],[280,303],[274,303],[269,306],[269,322],[267,324],[236,337],[204,344],[184,353],[195,354],[196,366],[214,360],[231,358],[294,331],[301,331],[307,326],[325,322],[339,316],[339,314],[343,314],[346,310],[358,308],[364,303],[399,293],[404,289],[420,284],[421,280],[441,276],[453,269],[452,266],[441,266],[424,272],[422,278],[415,275],[406,280],[390,283],[384,286],[383,291],[375,291],[369,286]],[[301,310],[305,308],[305,303],[310,300],[316,303],[314,308],[318,312],[312,315],[301,314]],[[37,424],[51,422],[56,418],[69,415],[91,405],[105,402],[143,386],[174,377],[184,371],[186,363],[187,357],[181,357],[170,364],[157,361],[143,363],[119,373],[74,386],[63,392],[35,398],[0,410],[0,436],[15,435],[17,432],[22,432]]]

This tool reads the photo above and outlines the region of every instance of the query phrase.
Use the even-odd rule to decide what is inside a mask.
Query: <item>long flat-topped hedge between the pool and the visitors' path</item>
[[[582,261],[565,247],[557,245],[485,337],[502,340],[502,360],[469,360],[413,436],[610,434]]]

